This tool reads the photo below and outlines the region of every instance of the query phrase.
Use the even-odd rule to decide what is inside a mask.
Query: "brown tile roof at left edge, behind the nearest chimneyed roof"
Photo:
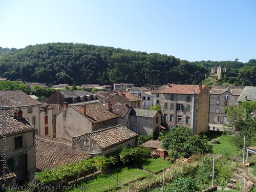
[[[2,106],[30,106],[36,104],[41,104],[41,102],[22,91],[0,91],[0,105]]]

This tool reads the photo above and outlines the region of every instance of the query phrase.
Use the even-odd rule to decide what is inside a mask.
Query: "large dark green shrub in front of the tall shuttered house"
[[[206,136],[194,135],[188,127],[179,126],[164,136],[163,147],[175,150],[179,157],[189,157],[194,153],[209,153],[211,145]]]

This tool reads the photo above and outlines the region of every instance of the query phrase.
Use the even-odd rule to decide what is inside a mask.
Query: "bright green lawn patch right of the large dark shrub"
[[[224,156],[239,156],[240,150],[232,143],[231,136],[224,135],[218,137],[217,139],[220,141],[220,144],[212,144],[212,151],[214,154]]]

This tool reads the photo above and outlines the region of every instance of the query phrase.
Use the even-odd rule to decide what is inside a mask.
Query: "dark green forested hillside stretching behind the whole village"
[[[198,78],[200,74],[208,73],[211,67],[222,65],[232,69],[228,74],[233,77],[230,83],[255,85],[256,63],[255,59],[251,60],[246,64],[223,61],[222,65],[221,62],[189,62],[171,55],[113,47],[49,43],[24,49],[0,47],[0,76],[10,80],[53,84],[198,84],[202,79]],[[246,79],[243,80],[241,76],[245,74]]]

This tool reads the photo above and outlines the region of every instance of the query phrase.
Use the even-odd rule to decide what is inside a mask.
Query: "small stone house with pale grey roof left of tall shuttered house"
[[[161,114],[157,110],[134,108],[131,112],[131,127],[138,135],[157,134],[161,126]]]

